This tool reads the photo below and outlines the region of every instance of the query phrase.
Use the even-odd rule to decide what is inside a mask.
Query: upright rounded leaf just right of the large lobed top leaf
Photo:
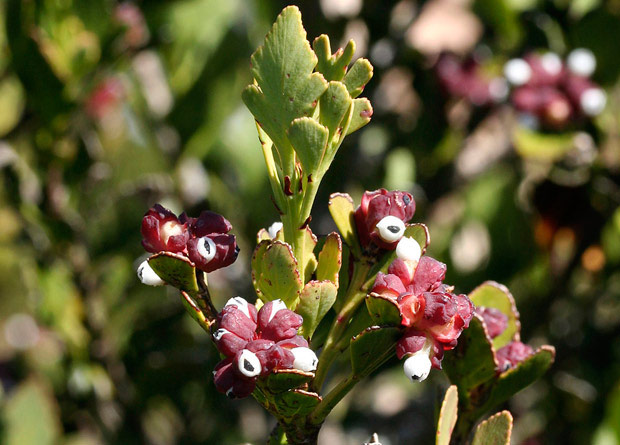
[[[319,122],[329,130],[329,141],[339,138],[346,129],[343,121],[350,111],[353,100],[342,82],[332,81],[319,99]],[[333,150],[335,152],[335,150]],[[323,167],[326,169],[333,159],[334,153],[325,154]]]

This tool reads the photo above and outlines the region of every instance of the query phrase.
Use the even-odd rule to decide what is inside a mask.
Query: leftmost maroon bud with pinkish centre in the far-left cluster
[[[147,252],[183,252],[189,239],[187,224],[155,204],[142,218],[142,246]]]

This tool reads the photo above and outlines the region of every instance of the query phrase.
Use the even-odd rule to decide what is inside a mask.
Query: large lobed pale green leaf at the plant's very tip
[[[289,6],[252,55],[256,83],[243,91],[243,101],[275,143],[280,165],[289,176],[294,165],[287,130],[294,119],[312,115],[327,88],[323,76],[312,72],[317,60],[306,40],[299,9]]]

